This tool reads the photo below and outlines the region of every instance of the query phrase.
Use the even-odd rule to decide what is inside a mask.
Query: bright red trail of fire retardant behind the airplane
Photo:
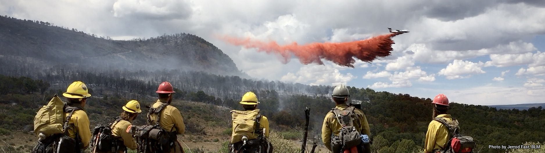
[[[289,62],[290,53],[299,59],[301,64],[317,63],[324,65],[321,59],[329,60],[341,66],[354,68],[355,58],[363,62],[371,63],[378,57],[387,57],[391,55],[392,44],[395,44],[391,38],[400,33],[391,33],[374,36],[365,40],[351,42],[313,42],[307,45],[298,45],[292,42],[288,45],[278,45],[275,41],[263,42],[252,40],[250,38],[235,38],[232,36],[222,36],[220,39],[229,44],[244,46],[244,48],[257,48],[260,52],[280,54],[283,57],[283,64]]]

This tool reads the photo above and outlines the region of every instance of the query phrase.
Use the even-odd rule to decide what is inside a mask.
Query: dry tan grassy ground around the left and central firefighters
[[[149,103],[142,103],[142,105],[149,105]],[[177,107],[184,117],[186,133],[179,135],[178,138],[186,152],[226,152],[226,143],[231,139],[231,115],[229,114],[231,109],[189,101],[174,101],[173,106]],[[8,107],[4,108],[10,109]],[[104,119],[98,118],[117,115],[117,110],[104,106],[86,106],[86,109],[90,114],[91,128],[101,121],[104,122]],[[139,118],[134,121],[134,124],[141,125],[144,123],[145,112],[139,115]],[[28,124],[31,125],[31,123]],[[272,129],[271,141],[275,150],[277,150],[275,152],[292,152],[294,149],[296,152],[300,152],[301,133],[298,131],[293,129],[275,131]],[[10,153],[30,152],[37,142],[34,133],[28,129],[0,132],[0,140],[2,140],[0,142],[0,152]],[[312,142],[309,140],[307,143],[306,152],[310,152]],[[319,145],[315,152],[321,153],[324,150],[327,149],[323,145]],[[91,151],[88,149],[86,152]]]

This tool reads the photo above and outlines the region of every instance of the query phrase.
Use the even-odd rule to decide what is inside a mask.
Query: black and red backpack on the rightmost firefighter
[[[443,153],[472,153],[475,148],[475,142],[473,137],[463,136],[459,133],[460,127],[458,126],[458,120],[452,118],[452,121],[447,121],[444,118],[434,118],[433,120],[445,125],[449,130],[449,142],[445,144],[445,148],[441,152]]]

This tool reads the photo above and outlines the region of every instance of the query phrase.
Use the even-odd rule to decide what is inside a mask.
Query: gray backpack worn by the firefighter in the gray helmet
[[[342,150],[350,149],[353,146],[361,145],[360,132],[356,130],[355,123],[358,123],[358,117],[354,113],[354,106],[349,106],[344,110],[332,108],[330,112],[335,114],[335,119],[341,124],[339,136],[331,137],[331,151],[342,152]]]

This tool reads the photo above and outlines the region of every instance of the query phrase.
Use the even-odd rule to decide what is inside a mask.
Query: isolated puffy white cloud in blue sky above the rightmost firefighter
[[[438,75],[446,76],[447,79],[469,78],[471,74],[484,74],[486,73],[481,69],[484,63],[473,63],[467,60],[454,60],[446,66],[445,69],[441,69]],[[467,75],[467,76],[461,76]]]

